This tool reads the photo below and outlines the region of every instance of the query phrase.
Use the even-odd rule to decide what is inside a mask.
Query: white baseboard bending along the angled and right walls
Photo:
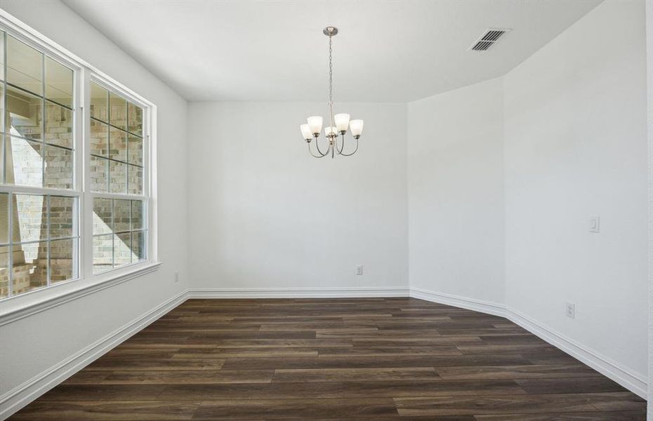
[[[465,298],[459,295],[436,293],[422,288],[411,288],[410,296],[413,298],[420,298],[421,300],[438,302],[444,305],[470,309],[475,312],[506,317],[506,319],[509,319],[513,323],[525,328],[533,335],[546,340],[546,342],[554,347],[562,349],[562,351],[567,352],[567,354],[597,370],[602,375],[605,375],[605,377],[619,383],[619,385],[625,387],[634,394],[637,394],[642,399],[647,398],[646,377],[635,373],[629,368],[621,366],[620,363],[609,359],[607,356],[600,354],[600,352],[596,352],[594,349],[567,338],[565,335],[544,326],[542,323],[529,318],[525,314],[517,312],[515,309],[510,309],[509,307],[496,302],[475,300],[473,298]]]

